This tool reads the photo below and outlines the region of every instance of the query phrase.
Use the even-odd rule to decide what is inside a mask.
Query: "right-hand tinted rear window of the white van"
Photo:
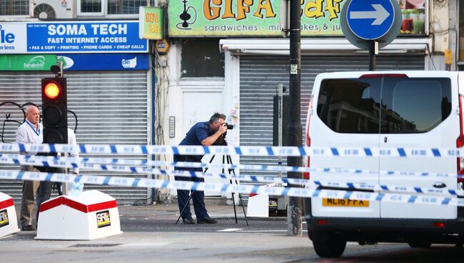
[[[451,112],[450,79],[385,79],[381,133],[429,132]]]

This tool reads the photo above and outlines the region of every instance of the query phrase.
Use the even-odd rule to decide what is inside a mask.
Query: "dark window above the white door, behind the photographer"
[[[182,42],[182,77],[224,76],[224,54],[219,39],[186,39]]]

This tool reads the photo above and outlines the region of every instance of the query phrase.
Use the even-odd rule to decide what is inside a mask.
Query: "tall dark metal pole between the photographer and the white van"
[[[301,20],[300,1],[290,1],[290,123],[289,146],[301,146]],[[301,167],[301,157],[287,157],[288,166]],[[288,172],[288,178],[303,178],[303,174]],[[301,187],[292,185],[291,187]],[[303,199],[289,197],[287,209],[287,234],[303,236]]]

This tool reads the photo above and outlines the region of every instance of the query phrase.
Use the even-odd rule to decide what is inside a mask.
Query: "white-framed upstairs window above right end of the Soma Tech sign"
[[[2,1],[2,0],[0,0]],[[78,14],[95,16],[105,14],[138,14],[139,6],[146,6],[147,0],[79,0]],[[154,6],[155,1],[150,0]]]

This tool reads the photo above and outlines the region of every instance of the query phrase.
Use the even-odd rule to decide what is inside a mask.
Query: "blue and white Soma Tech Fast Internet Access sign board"
[[[148,52],[148,41],[138,38],[138,21],[89,21],[0,24],[13,36],[26,35],[26,41],[11,41],[11,53],[115,53]]]

